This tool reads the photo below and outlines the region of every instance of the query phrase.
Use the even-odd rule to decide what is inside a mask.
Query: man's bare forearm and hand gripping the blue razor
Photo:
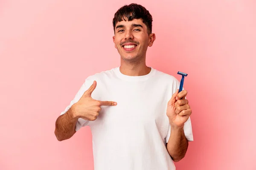
[[[188,140],[184,133],[185,122],[189,119],[192,111],[186,99],[187,91],[183,90],[172,95],[168,102],[166,115],[169,118],[171,133],[167,143],[167,150],[172,160],[177,162],[184,158]]]

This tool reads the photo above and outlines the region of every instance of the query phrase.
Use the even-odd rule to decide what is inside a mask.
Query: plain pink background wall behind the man
[[[1,170],[93,170],[90,128],[58,142],[55,120],[87,76],[119,66],[121,2],[0,1]],[[195,141],[177,170],[255,170],[256,1],[136,3],[157,37],[147,65],[188,74]]]

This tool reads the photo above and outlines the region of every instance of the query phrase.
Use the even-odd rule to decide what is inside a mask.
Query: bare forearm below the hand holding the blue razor
[[[171,135],[167,143],[167,150],[172,160],[177,162],[183,159],[188,148],[183,127],[171,127]]]

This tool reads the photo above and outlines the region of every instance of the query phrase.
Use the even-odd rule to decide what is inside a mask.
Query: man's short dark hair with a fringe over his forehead
[[[113,18],[113,27],[115,33],[115,27],[117,22],[121,22],[128,18],[128,21],[135,19],[142,19],[143,23],[147,26],[148,35],[152,33],[152,16],[149,11],[136,3],[131,3],[130,5],[122,6],[116,11],[115,16]],[[125,20],[126,21],[126,20]]]

